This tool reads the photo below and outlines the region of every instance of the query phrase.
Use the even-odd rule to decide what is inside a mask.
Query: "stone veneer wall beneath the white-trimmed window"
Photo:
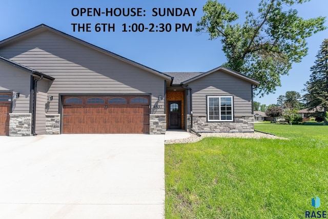
[[[190,115],[188,115],[190,116]],[[190,118],[188,117],[187,118]],[[193,115],[193,129],[196,132],[247,133],[254,132],[253,115],[235,115],[234,122],[207,122],[206,115]],[[189,129],[188,129],[189,130]]]

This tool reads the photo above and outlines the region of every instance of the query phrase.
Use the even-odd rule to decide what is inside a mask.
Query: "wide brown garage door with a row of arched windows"
[[[65,96],[64,134],[149,133],[149,96]]]

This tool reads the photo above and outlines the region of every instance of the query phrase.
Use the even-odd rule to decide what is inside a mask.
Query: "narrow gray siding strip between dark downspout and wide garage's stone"
[[[47,104],[48,81],[43,79],[37,82],[35,133],[46,134],[46,104]]]

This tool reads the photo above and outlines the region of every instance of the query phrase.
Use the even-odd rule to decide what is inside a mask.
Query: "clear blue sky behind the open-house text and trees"
[[[259,1],[222,0],[228,8],[237,12],[243,19],[246,10],[256,12]],[[96,46],[132,59],[161,72],[207,72],[226,61],[219,40],[208,40],[207,34],[195,32],[196,22],[203,15],[202,6],[206,0],[0,0],[0,40],[28,30],[39,24],[46,24],[69,35],[83,39]],[[72,16],[73,8],[142,8],[146,10],[141,17],[109,17]],[[196,8],[195,16],[161,17],[152,16],[153,8]],[[327,16],[327,0],[312,0],[297,5],[299,15],[303,18]],[[115,32],[73,32],[72,23],[115,24]],[[122,25],[144,24],[192,24],[192,32],[122,32]],[[328,26],[328,22],[325,23]],[[314,64],[315,55],[324,38],[328,38],[328,30],[319,32],[308,38],[309,54],[302,62],[293,64],[289,76],[282,76],[282,86],[277,87],[275,94],[254,100],[262,104],[276,103],[279,95],[286,91],[301,93],[304,83],[310,77],[310,67]],[[302,93],[301,93],[302,94]]]

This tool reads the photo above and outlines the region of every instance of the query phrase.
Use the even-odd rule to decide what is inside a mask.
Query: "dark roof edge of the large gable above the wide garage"
[[[120,55],[117,55],[117,54],[115,54],[115,53],[112,53],[112,52],[110,52],[110,51],[108,51],[108,50],[105,50],[105,49],[103,49],[103,48],[100,48],[100,47],[97,47],[97,46],[95,46],[95,45],[92,45],[92,44],[89,43],[89,42],[86,42],[86,41],[84,41],[84,40],[78,39],[78,38],[76,38],[76,37],[74,37],[74,36],[71,36],[71,35],[66,34],[66,33],[64,33],[64,32],[61,32],[61,31],[59,31],[59,30],[56,30],[56,29],[54,29],[54,28],[52,28],[52,27],[49,27],[49,26],[47,26],[47,25],[44,25],[44,24],[38,25],[38,26],[36,26],[36,27],[34,27],[34,28],[31,28],[31,29],[29,29],[29,30],[27,30],[27,31],[24,31],[24,32],[22,32],[22,33],[16,34],[16,35],[14,35],[14,36],[12,36],[12,37],[9,37],[9,38],[7,38],[7,39],[4,39],[4,40],[0,41],[0,47],[6,45],[7,43],[12,43],[12,42],[14,43],[15,41],[18,41],[18,40],[22,39],[22,37],[25,38],[25,37],[27,37],[27,36],[33,35],[33,34],[35,34],[35,33],[43,32],[43,31],[45,31],[45,30],[48,30],[48,31],[51,31],[51,32],[56,33],[56,34],[58,34],[58,35],[64,36],[64,37],[66,37],[66,38],[69,38],[69,39],[71,39],[71,40],[73,40],[73,41],[75,41],[75,42],[78,42],[78,43],[80,43],[80,44],[83,44],[84,46],[87,46],[87,47],[89,47],[89,48],[92,48],[92,49],[94,49],[94,50],[97,50],[97,51],[99,51],[99,52],[101,52],[101,53],[105,53],[106,55],[109,55],[109,56],[111,56],[111,57],[117,58],[117,59],[119,59],[119,60],[121,60],[121,61],[124,61],[124,62],[126,62],[126,63],[128,63],[128,64],[134,65],[134,66],[137,67],[137,68],[140,68],[140,69],[145,70],[145,71],[147,71],[147,72],[153,73],[153,74],[155,74],[155,75],[157,75],[157,76],[160,76],[160,77],[162,77],[162,78],[165,78],[165,79],[167,79],[167,80],[173,80],[173,77],[171,77],[171,76],[169,76],[169,75],[167,75],[167,74],[164,74],[164,73],[161,73],[161,72],[156,71],[156,70],[154,70],[154,69],[151,69],[151,68],[149,68],[149,67],[146,67],[145,65],[142,65],[142,64],[137,63],[137,62],[135,62],[135,61],[132,61],[132,60],[130,60],[130,59],[128,59],[128,58],[125,58],[125,57],[122,57],[122,56],[120,56]]]

